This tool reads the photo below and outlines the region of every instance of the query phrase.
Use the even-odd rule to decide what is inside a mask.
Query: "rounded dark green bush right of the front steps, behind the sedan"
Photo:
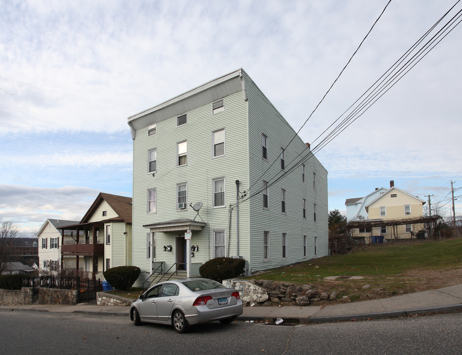
[[[244,273],[245,260],[228,257],[210,259],[199,268],[200,276],[219,283],[238,277]]]

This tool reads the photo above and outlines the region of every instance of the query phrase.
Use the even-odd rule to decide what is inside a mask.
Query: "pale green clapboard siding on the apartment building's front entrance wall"
[[[133,263],[143,271],[150,270],[146,257],[146,234],[143,225],[178,218],[193,219],[196,215],[188,206],[176,210],[176,186],[187,183],[187,202],[202,202],[200,217],[208,223],[201,232],[193,232],[193,245],[199,246],[193,262],[205,262],[212,258],[213,230],[224,229],[227,235],[228,255],[235,255],[235,215],[231,216],[230,204],[236,202],[235,180],[242,180],[241,189],[248,181],[247,169],[247,104],[242,92],[224,98],[225,111],[212,114],[212,103],[197,107],[187,114],[187,124],[177,127],[177,117],[158,122],[156,133],[148,136],[147,127],[136,132],[133,167]],[[225,129],[225,156],[212,158],[212,132]],[[177,142],[188,141],[187,166],[177,166]],[[148,150],[156,149],[156,173],[148,174]],[[226,206],[212,208],[212,179],[225,178]],[[156,189],[156,213],[147,213],[148,189]],[[239,215],[246,214],[240,208]],[[248,213],[247,213],[248,216]],[[197,218],[200,221],[200,218]],[[239,219],[241,221],[241,219]],[[240,233],[248,234],[248,223],[242,222]],[[175,248],[172,233],[156,233],[156,259],[175,262],[175,250],[163,251],[163,246]]]

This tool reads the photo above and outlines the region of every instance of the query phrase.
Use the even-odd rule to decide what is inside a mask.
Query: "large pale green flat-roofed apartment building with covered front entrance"
[[[217,256],[253,273],[328,254],[327,171],[242,69],[128,124],[138,283]]]

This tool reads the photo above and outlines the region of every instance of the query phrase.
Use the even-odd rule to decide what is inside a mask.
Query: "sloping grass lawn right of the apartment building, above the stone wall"
[[[347,255],[312,259],[250,278],[310,284],[323,292],[337,291],[338,297],[356,300],[462,283],[461,271],[462,239],[459,238],[360,247]],[[329,276],[340,278],[324,279]],[[364,279],[347,280],[346,276]],[[362,288],[365,284],[370,287]]]

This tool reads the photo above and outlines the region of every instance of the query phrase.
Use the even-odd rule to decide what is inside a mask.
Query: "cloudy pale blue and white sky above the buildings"
[[[238,68],[297,131],[387,2],[0,0],[0,216],[30,232],[81,217],[100,191],[131,196],[127,117]],[[316,146],[454,3],[392,0],[301,138]],[[449,213],[450,180],[462,187],[461,35],[316,152],[329,210],[394,180]]]

